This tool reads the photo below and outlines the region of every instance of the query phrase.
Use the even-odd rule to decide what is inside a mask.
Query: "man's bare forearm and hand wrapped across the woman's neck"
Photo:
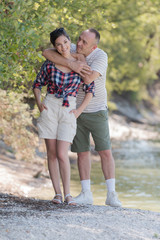
[[[54,48],[45,49],[42,52],[42,55],[46,59],[50,60],[51,62],[54,62],[56,64],[72,69],[74,72],[79,73],[82,77],[85,74],[87,75],[90,73],[90,67],[85,62],[74,61],[74,60],[64,58],[59,53],[57,53],[57,51]]]

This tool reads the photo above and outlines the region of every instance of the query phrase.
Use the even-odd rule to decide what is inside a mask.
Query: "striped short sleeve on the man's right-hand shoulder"
[[[100,75],[103,75],[108,67],[107,54],[102,50],[97,51],[90,67],[93,71],[96,71],[100,73]]]

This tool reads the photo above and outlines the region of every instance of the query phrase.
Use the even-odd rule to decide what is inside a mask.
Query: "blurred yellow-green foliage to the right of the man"
[[[115,1],[112,6],[109,31],[102,32],[102,47],[109,55],[108,85],[119,94],[135,92],[138,98],[160,68],[160,2]]]

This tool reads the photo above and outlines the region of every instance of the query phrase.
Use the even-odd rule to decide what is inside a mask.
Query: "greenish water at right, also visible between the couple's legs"
[[[123,207],[160,212],[160,143],[113,142],[116,190]],[[71,190],[80,192],[77,166],[72,164]],[[100,162],[92,163],[91,188],[94,204],[104,205],[106,185]]]

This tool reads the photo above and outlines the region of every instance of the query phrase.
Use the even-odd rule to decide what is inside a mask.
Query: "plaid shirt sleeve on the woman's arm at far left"
[[[48,61],[46,60],[41,66],[41,70],[37,74],[36,79],[34,80],[32,88],[42,89],[43,86],[48,84],[48,72],[47,72]]]

